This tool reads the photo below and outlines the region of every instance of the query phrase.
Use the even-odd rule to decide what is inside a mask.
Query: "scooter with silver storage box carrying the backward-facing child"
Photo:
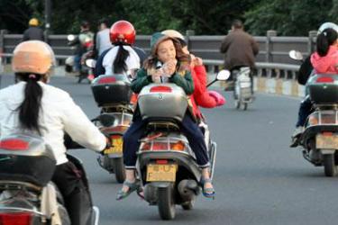
[[[230,76],[221,71],[218,80]],[[201,168],[185,135],[179,129],[187,111],[187,95],[175,84],[144,86],[138,107],[147,120],[145,138],[138,151],[137,172],[142,181],[145,201],[157,205],[162,220],[175,218],[175,205],[191,210],[200,193]],[[207,140],[209,143],[209,140]],[[208,145],[209,146],[209,145]],[[208,154],[211,175],[215,168],[216,144],[211,141]]]

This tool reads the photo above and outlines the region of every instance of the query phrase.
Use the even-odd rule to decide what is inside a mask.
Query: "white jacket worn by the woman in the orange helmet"
[[[25,85],[26,82],[19,82],[0,90],[0,138],[22,130],[16,109],[23,102]],[[41,136],[50,144],[57,165],[68,161],[63,144],[64,130],[86,148],[96,151],[105,148],[105,136],[88,120],[67,92],[42,82],[39,85],[42,87],[39,113]]]

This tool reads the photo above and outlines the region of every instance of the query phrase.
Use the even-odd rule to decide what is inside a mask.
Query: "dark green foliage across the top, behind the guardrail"
[[[321,23],[338,22],[338,0],[50,0],[51,31],[58,34],[78,32],[87,20],[96,31],[100,19],[111,23],[128,20],[137,33],[175,29],[193,30],[197,35],[223,35],[233,19],[242,19],[247,31],[265,35],[306,36]],[[0,30],[22,33],[32,16],[43,26],[43,0],[1,0]]]

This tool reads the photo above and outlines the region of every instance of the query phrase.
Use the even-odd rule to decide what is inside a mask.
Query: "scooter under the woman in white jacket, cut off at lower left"
[[[79,160],[70,155],[69,160],[87,184]],[[50,181],[55,168],[53,152],[40,137],[15,134],[0,139],[0,224],[70,225],[63,197]],[[98,224],[98,214],[93,207],[90,224]]]

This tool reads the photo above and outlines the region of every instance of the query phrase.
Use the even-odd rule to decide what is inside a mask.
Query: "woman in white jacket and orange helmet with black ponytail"
[[[31,132],[50,144],[57,160],[52,181],[64,196],[71,224],[83,225],[87,218],[81,218],[78,211],[83,211],[84,205],[90,210],[90,196],[66,156],[64,132],[97,152],[105,149],[106,139],[68,93],[46,84],[54,60],[50,46],[40,40],[16,46],[12,67],[19,82],[0,90],[0,138]]]

